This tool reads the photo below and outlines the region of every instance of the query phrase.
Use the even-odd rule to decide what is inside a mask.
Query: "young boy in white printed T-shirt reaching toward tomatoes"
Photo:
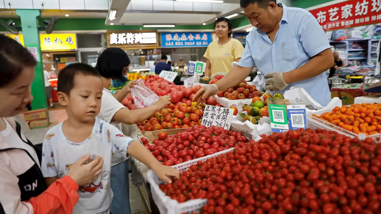
[[[102,79],[90,65],[71,64],[58,75],[58,101],[66,106],[67,120],[51,128],[43,142],[42,173],[46,184],[65,176],[78,158],[90,153],[84,163],[97,156],[104,160],[101,174],[91,183],[80,187],[74,214],[108,214],[112,201],[110,188],[111,164],[117,164],[127,153],[170,182],[167,176],[179,178],[179,172],[163,166],[138,141],[126,137],[115,126],[96,118],[101,108]]]

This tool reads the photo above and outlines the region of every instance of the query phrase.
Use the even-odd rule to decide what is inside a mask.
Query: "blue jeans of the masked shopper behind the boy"
[[[130,182],[128,180],[128,160],[111,166],[112,214],[131,214]]]

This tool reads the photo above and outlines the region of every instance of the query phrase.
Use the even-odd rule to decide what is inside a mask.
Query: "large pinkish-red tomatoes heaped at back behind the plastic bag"
[[[183,85],[174,85],[173,82],[170,83],[169,81],[164,80],[162,77],[159,77],[158,75],[154,76],[154,78],[145,80],[144,84],[147,86],[147,88],[154,91],[154,93],[157,94],[159,97],[170,95],[171,103],[176,106],[180,104],[186,104],[187,106],[191,106],[193,97],[196,95],[197,91],[199,91],[199,89],[202,88],[202,86],[200,85],[196,85],[190,88],[186,88]],[[208,99],[204,100],[203,103],[208,105],[221,106],[217,104],[216,99],[213,97],[209,97]],[[131,94],[129,94],[123,99],[122,104],[130,110],[135,109],[134,101]]]

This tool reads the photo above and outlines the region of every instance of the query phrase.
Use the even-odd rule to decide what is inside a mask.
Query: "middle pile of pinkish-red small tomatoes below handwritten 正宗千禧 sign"
[[[154,144],[149,145],[145,141],[143,145],[162,164],[173,166],[246,142],[247,138],[242,136],[242,133],[231,132],[221,127],[207,128],[204,125],[196,125],[170,137],[166,132],[160,132],[158,139],[153,141]]]

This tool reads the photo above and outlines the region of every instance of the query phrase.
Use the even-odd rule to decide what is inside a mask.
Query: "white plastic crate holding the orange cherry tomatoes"
[[[323,113],[332,112],[332,109],[320,110],[320,111],[314,112],[314,114],[317,116],[320,116]],[[321,119],[316,118],[316,117],[312,117],[312,114],[307,115],[307,124],[308,124],[308,128],[311,128],[312,130],[327,129],[327,130],[331,130],[331,131],[336,131],[339,134],[344,134],[344,135],[352,137],[352,138],[358,137],[360,140],[364,140],[366,137],[371,137],[375,143],[381,142],[381,134],[372,134],[372,135],[368,135],[368,136],[366,136],[363,133],[355,134],[355,133],[348,131],[346,129],[343,129],[339,126],[333,125],[332,123],[329,123],[327,121],[321,120]]]

